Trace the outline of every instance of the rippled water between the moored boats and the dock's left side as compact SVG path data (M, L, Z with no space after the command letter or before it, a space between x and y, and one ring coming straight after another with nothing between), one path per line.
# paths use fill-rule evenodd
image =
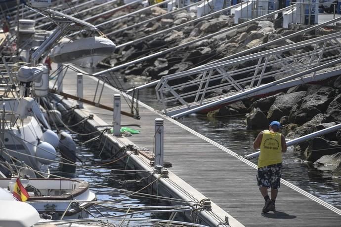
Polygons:
M74 129L75 131L81 131L81 129ZM67 177L67 178L76 178L83 181L86 181L90 184L90 190L96 194L97 201L113 201L117 203L124 203L127 205L136 205L136 206L156 206L156 205L171 205L166 201L156 201L155 199L148 198L148 197L140 197L140 196L133 196L133 195L127 195L125 191L117 190L130 190L130 191L137 191L142 189L145 185L142 185L141 183L135 183L135 184L119 184L117 180L125 181L125 180L131 180L131 179L139 179L138 176L135 176L132 172L123 172L123 171L116 171L124 169L124 166L120 164L111 164L111 165L96 165L95 163L100 162L102 158L98 156L98 153L102 150L102 146L98 145L98 142L90 142L84 146L81 145L82 142L88 140L91 137L82 137L78 136L76 134L72 134L69 131L67 131L74 141L77 143L77 156L80 160L77 161L78 165L83 166L98 166L103 168L110 168L109 170L103 170L103 169L90 169L87 170L81 166L78 166L76 168L75 173L63 173L61 172L60 165L58 163L51 165L51 173L54 175ZM84 132L83 132L84 133ZM123 155L123 154L122 154ZM122 156L121 155L121 156ZM115 157L114 159L117 159L121 157L120 154ZM104 159L107 159L108 157L104 157ZM58 160L60 161L60 160ZM115 170L113 170L115 169ZM131 174L130 174L131 173ZM111 179L110 179L111 178ZM112 180L115 179L115 180ZM112 187L115 189L110 188L103 188L96 185L102 185L107 187ZM148 193L146 190L141 190L141 193ZM102 204L105 205L105 204ZM116 206L116 208L121 208L123 210L112 210L106 207L96 206L98 210L105 216L109 215L120 215L126 213L127 208L123 208L123 206ZM93 207L91 207L90 212L94 215L94 217L102 217ZM134 218L160 218L160 219L168 219L169 214L151 214L151 213L143 213L143 214L135 214ZM90 216L91 218L91 216ZM135 224L137 226L141 225L141 222L134 223L130 222L130 224ZM152 224L148 224L148 222L143 223L143 226L152 226Z

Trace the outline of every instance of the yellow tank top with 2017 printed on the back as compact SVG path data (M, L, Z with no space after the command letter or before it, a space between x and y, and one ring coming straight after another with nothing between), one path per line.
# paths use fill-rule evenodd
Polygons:
M258 168L282 162L281 133L263 131L258 157Z

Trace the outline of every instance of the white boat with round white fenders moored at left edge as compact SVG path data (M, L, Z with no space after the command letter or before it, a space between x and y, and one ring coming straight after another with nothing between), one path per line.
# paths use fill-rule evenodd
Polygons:
M23 168L21 174L31 177L49 177L48 164L56 158L56 151L52 145L44 142L44 133L38 120L33 116L18 119L18 99L2 99L1 101L5 105L0 109L6 110L5 127L2 129L5 149L2 156L9 163L13 163L13 169L19 168L23 163L29 166L29 169ZM56 137L58 139L58 136ZM38 174L35 171L39 171Z

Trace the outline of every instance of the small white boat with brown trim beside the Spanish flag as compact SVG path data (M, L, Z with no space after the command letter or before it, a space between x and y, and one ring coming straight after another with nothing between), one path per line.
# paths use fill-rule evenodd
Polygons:
M15 178L0 178L0 188L7 192L0 193L0 200L11 196L15 181ZM63 220L88 218L89 214L85 209L96 200L96 195L84 181L54 178L22 179L21 182L30 195L26 202L41 216L52 220L60 220L62 217Z

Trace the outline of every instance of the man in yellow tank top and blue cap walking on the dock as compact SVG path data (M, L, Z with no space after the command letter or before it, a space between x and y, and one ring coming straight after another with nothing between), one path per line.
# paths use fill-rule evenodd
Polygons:
M260 132L254 142L254 149L260 148L257 185L265 200L263 213L276 211L275 201L282 173L282 152L287 151L285 138L279 133L280 128L281 124L278 121L272 121L269 130ZM267 193L269 188L271 188L271 199Z

